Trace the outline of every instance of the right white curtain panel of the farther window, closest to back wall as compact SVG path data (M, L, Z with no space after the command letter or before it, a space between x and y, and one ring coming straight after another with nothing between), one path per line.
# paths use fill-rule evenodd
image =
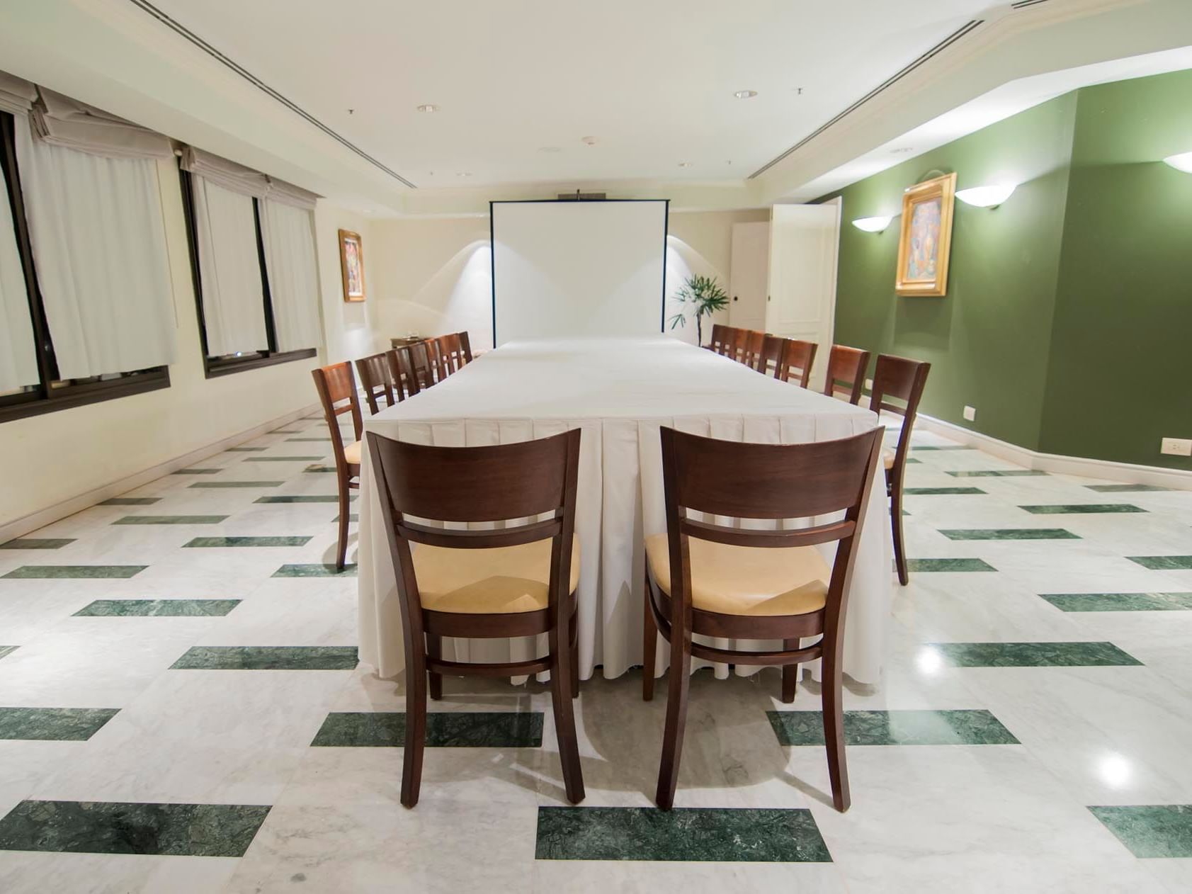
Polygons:
M261 237L278 350L316 348L323 341L313 228L313 212L273 199L261 201Z

